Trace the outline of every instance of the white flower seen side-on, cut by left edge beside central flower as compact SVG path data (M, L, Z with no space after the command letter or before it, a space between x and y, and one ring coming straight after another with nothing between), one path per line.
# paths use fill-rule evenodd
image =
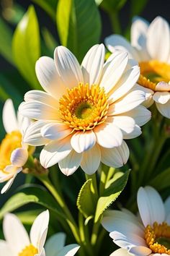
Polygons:
M1 189L4 193L27 162L27 145L22 142L22 136L30 121L20 114L16 116L11 99L4 104L2 119L6 136L0 145L0 182L8 181Z

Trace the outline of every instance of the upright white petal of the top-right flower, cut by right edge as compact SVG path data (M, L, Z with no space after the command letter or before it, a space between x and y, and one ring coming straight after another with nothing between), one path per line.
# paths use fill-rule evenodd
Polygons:
M148 27L147 48L152 59L164 62L169 59L169 24L161 17L156 17Z

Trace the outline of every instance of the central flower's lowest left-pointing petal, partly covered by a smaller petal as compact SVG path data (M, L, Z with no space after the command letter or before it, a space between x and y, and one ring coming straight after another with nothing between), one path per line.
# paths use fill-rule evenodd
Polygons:
M41 146L47 144L49 140L42 137L40 133L40 130L46 124L48 124L48 121L43 120L35 121L34 123L30 124L30 127L28 127L26 132L24 133L24 143L32 146Z

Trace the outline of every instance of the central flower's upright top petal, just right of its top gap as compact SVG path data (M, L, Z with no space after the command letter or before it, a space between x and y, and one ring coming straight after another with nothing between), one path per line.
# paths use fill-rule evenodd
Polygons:
M81 64L84 83L88 82L89 85L99 84L104 64L104 54L103 44L95 45L89 49Z

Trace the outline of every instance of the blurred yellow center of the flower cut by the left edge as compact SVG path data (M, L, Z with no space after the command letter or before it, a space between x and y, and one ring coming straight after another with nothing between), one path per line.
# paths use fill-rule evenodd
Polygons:
M14 131L6 134L0 145L0 170L11 164L10 158L12 151L22 146L22 134Z

